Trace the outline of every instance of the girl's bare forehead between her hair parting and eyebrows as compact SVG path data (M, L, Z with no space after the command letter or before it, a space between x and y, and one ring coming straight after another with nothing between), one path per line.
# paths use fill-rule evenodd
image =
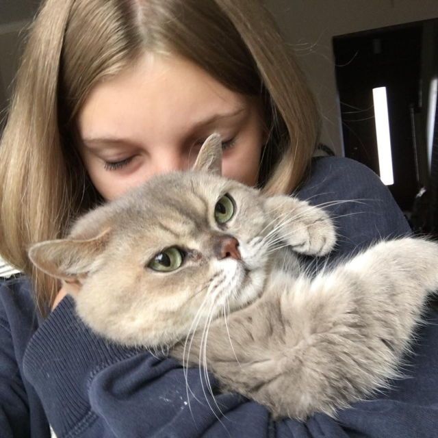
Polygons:
M123 73L96 85L78 116L81 136L129 134L151 142L179 135L208 114L250 105L181 57L146 54ZM171 128L171 129L170 129ZM169 139L170 140L170 139Z

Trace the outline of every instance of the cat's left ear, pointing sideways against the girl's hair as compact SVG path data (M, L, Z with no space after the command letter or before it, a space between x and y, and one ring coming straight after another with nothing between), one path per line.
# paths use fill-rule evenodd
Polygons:
M110 231L105 229L87 240L66 238L34 244L28 251L29 259L56 279L81 281L99 263L99 256L110 240Z

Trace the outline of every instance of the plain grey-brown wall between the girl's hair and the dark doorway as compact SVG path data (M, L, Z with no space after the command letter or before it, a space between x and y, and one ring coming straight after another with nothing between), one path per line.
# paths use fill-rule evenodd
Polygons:
M333 36L438 17L437 0L264 0L320 102L322 141L342 155Z

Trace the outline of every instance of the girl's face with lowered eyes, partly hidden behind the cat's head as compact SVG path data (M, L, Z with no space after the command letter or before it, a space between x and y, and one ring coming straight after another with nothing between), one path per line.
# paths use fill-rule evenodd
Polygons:
M232 92L179 57L145 55L99 83L79 112L79 152L107 200L153 175L192 166L209 134L222 136L222 174L259 176L266 129L260 102Z

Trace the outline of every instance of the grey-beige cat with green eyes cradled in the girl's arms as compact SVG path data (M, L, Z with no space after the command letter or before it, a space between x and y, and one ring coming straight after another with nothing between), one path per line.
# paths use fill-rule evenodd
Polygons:
M380 242L312 278L298 253L332 250L329 215L222 177L221 145L210 136L191 170L97 207L29 258L80 283L77 313L99 335L168 348L275 418L335 415L399 375L438 288L438 245Z

